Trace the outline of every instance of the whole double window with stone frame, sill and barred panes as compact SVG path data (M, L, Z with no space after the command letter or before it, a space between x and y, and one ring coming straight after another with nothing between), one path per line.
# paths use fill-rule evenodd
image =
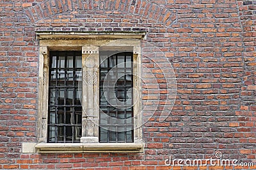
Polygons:
M144 36L38 31L38 152L143 151L138 77Z

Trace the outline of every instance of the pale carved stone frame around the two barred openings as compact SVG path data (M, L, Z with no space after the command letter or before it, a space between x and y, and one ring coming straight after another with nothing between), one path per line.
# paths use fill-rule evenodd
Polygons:
M64 32L64 31L37 31L36 38L39 40L39 96L38 96L38 143L22 144L24 153L76 153L76 152L143 152L142 142L142 116L141 97L134 104L134 143L99 143L99 127L86 127L92 125L88 121L99 121L99 47L110 50L120 49L133 52L134 62L134 88L141 95L141 40L145 38L145 31L90 31L90 32ZM48 116L48 93L49 93L49 51L51 50L81 50L83 76L92 72L96 76L95 84L84 83L82 105L91 115L82 114L82 137L81 143L47 143L47 116ZM86 62L85 62L86 61ZM95 77L94 77L95 78ZM88 95L89 94L89 95ZM136 94L136 93L134 93ZM93 98L95 100L93 100ZM134 98L137 98L135 96ZM89 101L89 102L88 102ZM91 119L87 119L92 116ZM87 128L87 130L86 130ZM93 133L88 133L93 128Z

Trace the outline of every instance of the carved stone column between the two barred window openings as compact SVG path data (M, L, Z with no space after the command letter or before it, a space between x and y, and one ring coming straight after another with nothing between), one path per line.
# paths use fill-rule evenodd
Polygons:
M83 115L81 143L98 143L99 47L83 47Z

